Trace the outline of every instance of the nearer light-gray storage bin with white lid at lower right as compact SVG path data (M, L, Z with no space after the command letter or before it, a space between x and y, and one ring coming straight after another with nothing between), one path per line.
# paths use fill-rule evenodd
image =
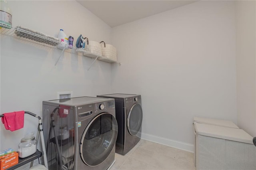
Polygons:
M256 170L252 136L239 128L194 123L197 170Z

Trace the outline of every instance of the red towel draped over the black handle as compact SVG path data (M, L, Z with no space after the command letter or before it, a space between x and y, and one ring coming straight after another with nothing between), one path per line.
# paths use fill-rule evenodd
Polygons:
M6 130L18 130L24 127L24 111L4 113L2 117L2 123Z

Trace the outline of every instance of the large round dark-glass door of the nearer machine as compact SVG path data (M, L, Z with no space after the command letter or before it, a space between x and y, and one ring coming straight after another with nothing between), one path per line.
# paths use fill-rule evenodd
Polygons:
M88 166L102 163L112 151L117 138L116 119L109 113L101 113L88 124L80 142L80 156Z

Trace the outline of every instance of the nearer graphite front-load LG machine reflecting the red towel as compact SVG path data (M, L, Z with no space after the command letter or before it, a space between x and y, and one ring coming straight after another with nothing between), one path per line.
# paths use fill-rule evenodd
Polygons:
M42 111L49 170L106 170L114 164L114 99L43 101Z

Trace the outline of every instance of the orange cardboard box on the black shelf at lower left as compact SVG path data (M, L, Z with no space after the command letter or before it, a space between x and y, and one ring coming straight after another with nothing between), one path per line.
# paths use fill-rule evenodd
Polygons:
M10 154L6 154L4 158L0 159L0 170L5 170L18 164L19 162L19 154L17 152L12 152Z

